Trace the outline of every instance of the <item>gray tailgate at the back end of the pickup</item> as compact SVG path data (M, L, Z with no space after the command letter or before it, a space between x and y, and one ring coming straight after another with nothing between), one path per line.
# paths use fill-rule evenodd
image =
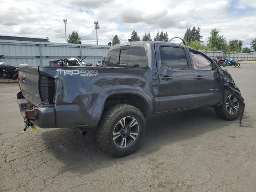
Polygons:
M38 86L39 80L38 66L19 66L19 82L22 94L28 102L34 105L42 102Z

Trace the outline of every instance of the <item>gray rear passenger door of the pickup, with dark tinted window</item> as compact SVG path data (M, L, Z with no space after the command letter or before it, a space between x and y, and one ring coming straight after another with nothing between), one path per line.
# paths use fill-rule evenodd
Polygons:
M194 100L195 77L184 46L156 44L159 74L159 109L168 112L190 108Z

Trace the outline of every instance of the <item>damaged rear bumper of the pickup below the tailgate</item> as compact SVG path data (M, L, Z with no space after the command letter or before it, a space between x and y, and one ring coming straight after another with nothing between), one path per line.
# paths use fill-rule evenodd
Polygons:
M17 93L17 101L20 108L20 113L25 117L25 110L30 110L30 103L26 100L22 92ZM38 118L31 121L34 125L40 128L55 128L55 114L54 108L50 105L41 105L38 109Z

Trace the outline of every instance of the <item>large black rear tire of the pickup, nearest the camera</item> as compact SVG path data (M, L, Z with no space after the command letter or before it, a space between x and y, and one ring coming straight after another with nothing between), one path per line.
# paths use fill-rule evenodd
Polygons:
M132 125L132 122L129 123L129 120L131 119L132 121L132 118L135 119L138 124ZM126 126L122 126L120 121L122 124L124 122L124 125L126 126L131 126L130 130L129 128L124 130ZM118 130L118 128L120 128L120 130ZM137 136L135 139L133 139L135 137L135 135L133 135L133 128L136 128L136 130L138 129L138 133L136 133ZM138 148L142 142L142 139L144 138L145 130L146 121L144 115L140 110L138 110L138 108L128 104L118 104L112 106L102 114L102 118L98 124L96 140L107 154L116 157L122 157L131 154L134 152L134 150L136 150L136 148ZM119 131L120 136L117 135L118 138L115 136L115 139L114 134L119 134ZM127 137L124 135L124 137L126 137L125 142L124 138L122 137L123 135L121 135L123 131L126 131L125 133L129 131ZM131 135L134 137L132 138ZM118 143L118 141L120 142Z

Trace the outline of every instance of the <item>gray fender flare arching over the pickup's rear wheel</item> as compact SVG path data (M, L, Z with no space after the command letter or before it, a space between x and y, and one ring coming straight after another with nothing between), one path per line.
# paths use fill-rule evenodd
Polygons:
M150 114L153 112L153 98L150 98L146 92L141 87L133 85L117 85L117 86L107 86L100 91L96 103L94 104L94 109L92 112L92 118L90 121L90 127L96 127L104 110L104 104L107 98L114 94L135 94L143 98L148 104Z

